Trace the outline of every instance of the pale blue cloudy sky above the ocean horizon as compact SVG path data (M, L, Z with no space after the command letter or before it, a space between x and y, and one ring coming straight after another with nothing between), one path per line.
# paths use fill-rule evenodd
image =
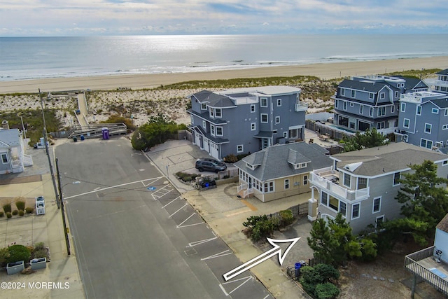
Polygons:
M2 0L0 36L448 33L447 0Z

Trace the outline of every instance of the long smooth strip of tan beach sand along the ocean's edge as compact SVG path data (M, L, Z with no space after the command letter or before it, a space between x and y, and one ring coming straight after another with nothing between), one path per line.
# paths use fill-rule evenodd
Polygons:
M207 81L231 78L263 78L274 76L317 76L323 79L356 75L384 74L410 69L447 69L448 57L376 60L367 62L335 62L304 64L288 67L262 67L229 71L209 71L177 74L139 74L116 76L87 76L45 78L22 81L0 81L0 94L15 92L43 92L64 90L116 90L117 88L156 88L184 81Z

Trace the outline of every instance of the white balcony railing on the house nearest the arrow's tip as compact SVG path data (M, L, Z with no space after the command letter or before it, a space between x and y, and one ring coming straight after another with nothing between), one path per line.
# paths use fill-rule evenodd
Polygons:
M311 172L311 183L320 186L328 193L332 193L346 200L365 200L370 196L369 187L358 190L349 190L314 172Z

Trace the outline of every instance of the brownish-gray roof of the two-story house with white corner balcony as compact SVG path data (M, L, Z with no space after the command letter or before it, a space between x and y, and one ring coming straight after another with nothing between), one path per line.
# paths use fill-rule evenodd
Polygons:
M428 148L405 142L387 144L360 151L332 155L337 160L337 168L359 176L379 176L385 173L408 169L411 164L421 164L424 160L447 160L447 155ZM359 163L360 164L356 164ZM353 167L356 165L356 167Z

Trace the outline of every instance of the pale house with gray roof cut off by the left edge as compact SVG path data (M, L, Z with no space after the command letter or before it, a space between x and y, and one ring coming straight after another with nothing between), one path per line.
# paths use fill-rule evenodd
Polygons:
M18 129L0 130L0 174L23 172L33 165L30 155L25 154L22 133Z

